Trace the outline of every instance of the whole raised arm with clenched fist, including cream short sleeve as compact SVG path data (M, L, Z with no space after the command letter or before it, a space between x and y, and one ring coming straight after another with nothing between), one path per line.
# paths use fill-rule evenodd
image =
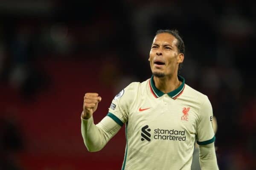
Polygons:
M90 152L101 150L105 144L128 121L128 113L137 94L138 83L131 83L117 94L112 100L108 115L97 125L93 122L93 113L102 98L97 93L84 95L83 112L81 114L81 133L84 144Z

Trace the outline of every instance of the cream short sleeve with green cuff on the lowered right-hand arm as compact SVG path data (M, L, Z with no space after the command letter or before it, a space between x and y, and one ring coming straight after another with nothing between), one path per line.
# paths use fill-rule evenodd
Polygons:
M210 144L215 141L212 127L212 105L206 96L200 109L200 118L197 125L197 144Z

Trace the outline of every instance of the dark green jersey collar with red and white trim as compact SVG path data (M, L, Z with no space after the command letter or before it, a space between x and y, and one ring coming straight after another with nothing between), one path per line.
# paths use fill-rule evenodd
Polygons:
M153 95L157 98L157 97L161 97L164 95L164 93L160 90L157 89L157 87L155 86L154 84L154 79L153 79L153 75L150 79L150 88L151 88L151 92L153 93ZM174 91L171 91L168 94L168 96L172 97L173 99L176 99L177 96L179 96L182 92L183 92L183 89L185 87L185 79L181 76L178 75L178 79L182 82L181 85L175 89Z

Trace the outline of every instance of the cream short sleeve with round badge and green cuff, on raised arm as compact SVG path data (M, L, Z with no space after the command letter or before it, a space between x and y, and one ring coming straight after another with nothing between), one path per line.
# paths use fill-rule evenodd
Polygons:
M133 82L122 89L122 91L114 97L109 107L107 116L111 117L120 126L128 122L130 108L136 95L136 84L136 82Z

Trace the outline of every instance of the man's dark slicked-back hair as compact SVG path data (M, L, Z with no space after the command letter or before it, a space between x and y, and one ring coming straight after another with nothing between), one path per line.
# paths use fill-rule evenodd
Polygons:
M160 29L157 31L156 35L157 34L161 34L161 33L169 33L169 34L172 34L177 40L177 49L178 49L178 52L179 53L183 53L185 55L185 45L184 45L184 42L182 40L182 38L180 37L180 34L179 34L179 31L177 31L176 29L175 30L169 30L169 29ZM180 69L182 68L183 66L183 63L180 63L179 64L179 68L178 68L178 71L180 71Z

